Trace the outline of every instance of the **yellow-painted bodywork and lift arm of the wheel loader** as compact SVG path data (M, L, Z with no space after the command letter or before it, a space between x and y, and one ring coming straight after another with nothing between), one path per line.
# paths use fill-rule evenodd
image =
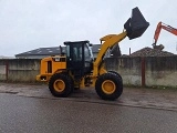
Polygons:
M107 49L117 44L126 35L127 35L126 31L123 31L119 34L108 34L101 38L100 40L103 43L101 45L101 50L98 51L97 58L93 63L93 73L90 73L88 75L83 76L80 82L74 81L74 84L80 85L80 88L85 88L85 78L88 76L90 79L92 79L92 83L90 85L95 86L97 76L104 73L107 73L103 63L103 57L106 53ZM54 73L60 73L63 71L66 71L66 57L58 55L58 57L44 58L41 60L40 74L37 75L37 80L48 82ZM73 78L71 73L69 74ZM59 82L58 84L59 84L59 90L63 88L62 82ZM106 82L105 84L108 84L108 83Z

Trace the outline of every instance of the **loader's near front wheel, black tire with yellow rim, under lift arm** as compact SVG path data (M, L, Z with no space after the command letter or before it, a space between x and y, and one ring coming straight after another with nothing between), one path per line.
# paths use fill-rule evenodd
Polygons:
M123 82L114 73L104 73L97 78L95 90L101 99L113 101L123 93Z

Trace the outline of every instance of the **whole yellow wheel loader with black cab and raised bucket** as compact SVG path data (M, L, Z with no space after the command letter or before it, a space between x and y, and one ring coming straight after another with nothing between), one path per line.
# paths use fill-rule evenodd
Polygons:
M94 86L101 99L116 100L123 93L123 79L117 72L104 68L104 55L126 37L129 40L140 37L148 25L136 7L125 22L123 32L100 39L101 50L95 60L90 41L66 41L65 53L61 51L60 55L41 60L37 80L48 82L50 92L58 98L69 96L75 88Z

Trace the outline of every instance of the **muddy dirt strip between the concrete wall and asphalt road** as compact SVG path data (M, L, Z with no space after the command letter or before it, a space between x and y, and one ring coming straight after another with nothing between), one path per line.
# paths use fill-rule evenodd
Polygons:
M46 84L0 83L0 93L61 100L50 93ZM124 88L124 92L118 100L108 102L101 100L94 89L87 88L85 90L75 90L69 98L62 100L177 111L177 90Z

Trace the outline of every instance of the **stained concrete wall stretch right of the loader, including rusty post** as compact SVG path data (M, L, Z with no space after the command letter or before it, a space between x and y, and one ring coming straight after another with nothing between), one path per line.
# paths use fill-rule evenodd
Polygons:
M105 64L122 75L124 85L177 88L177 57L110 58Z

